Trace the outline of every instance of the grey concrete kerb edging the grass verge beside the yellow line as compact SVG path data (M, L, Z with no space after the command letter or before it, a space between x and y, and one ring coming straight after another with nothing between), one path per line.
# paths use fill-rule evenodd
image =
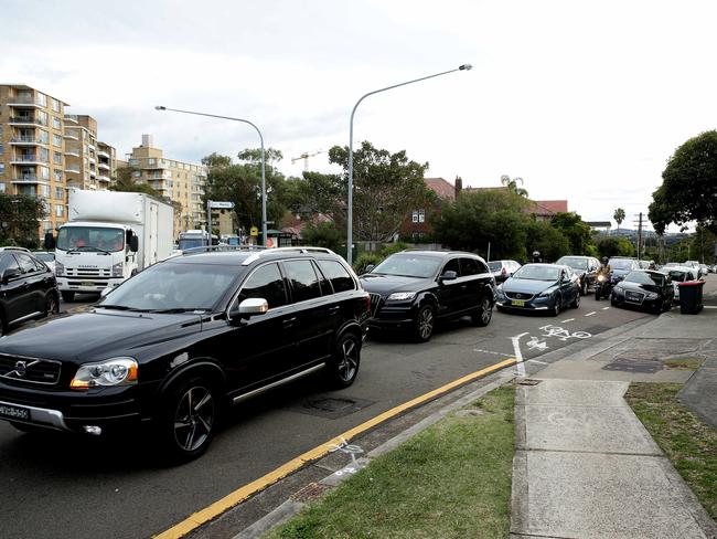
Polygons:
M454 412L456 410L460 410L461 408L467 406L468 404L477 401L478 399L484 397L486 393L490 393L494 389L500 388L501 385L504 385L509 382L511 382L514 377L513 374L509 371L501 371L495 374L496 380L479 388L478 390L453 401L452 403L448 404L447 406L440 409L439 411L435 412L434 414L429 415L428 418L425 418L424 420L419 421L415 425L406 429L402 433L397 434L396 436L392 437L390 440L384 442L379 446L375 447L374 450L370 451L365 457L357 458L355 462L351 463L347 466L344 466L343 468L328 475L323 479L319 480L318 484L327 487L336 487L341 483L343 483L346 478L351 477L354 473L358 472L360 469L365 468L371 464L371 462L385 454L388 453L396 447L398 447L400 444L409 440L410 437L415 436L416 434L420 433L421 431L428 429L430 425L434 425L435 423L439 422L443 418L446 418L448 414L451 412ZM351 468L351 469L350 469ZM281 524L286 522L289 520L291 517L293 517L297 512L299 512L303 507L306 507L307 504L302 501L297 501L295 499L288 499L283 504L281 504L279 507L274 509L271 512L263 517L261 519L257 520L254 522L252 526L245 528L242 530L239 533L234 536L233 539L254 539L256 537L261 536L263 533L266 533L269 531L271 528L276 526L280 526Z

